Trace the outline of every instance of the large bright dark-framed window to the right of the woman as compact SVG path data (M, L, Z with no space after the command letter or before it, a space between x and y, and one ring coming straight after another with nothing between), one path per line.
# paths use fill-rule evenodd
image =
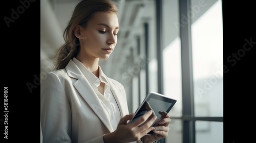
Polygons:
M165 142L223 142L221 0L163 0L162 17L164 94L177 99Z

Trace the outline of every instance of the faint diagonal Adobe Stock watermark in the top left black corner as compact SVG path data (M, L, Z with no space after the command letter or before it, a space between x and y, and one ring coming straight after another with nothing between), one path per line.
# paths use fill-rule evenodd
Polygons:
M15 22L20 16L20 14L23 14L26 9L30 7L30 3L35 2L36 0L20 0L20 5L16 9L11 9L11 15L9 17L5 16L4 20L6 22L7 27L10 27L11 22Z

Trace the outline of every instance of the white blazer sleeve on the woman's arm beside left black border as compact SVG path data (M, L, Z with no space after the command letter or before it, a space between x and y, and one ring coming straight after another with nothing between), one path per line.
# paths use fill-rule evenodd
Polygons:
M71 110L60 79L48 73L40 93L42 142L71 142Z

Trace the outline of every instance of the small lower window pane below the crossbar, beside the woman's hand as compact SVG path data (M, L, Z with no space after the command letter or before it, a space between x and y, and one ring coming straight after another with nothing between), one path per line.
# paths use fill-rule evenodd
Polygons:
M169 124L169 134L165 138L165 142L182 143L182 122L178 119L172 119Z

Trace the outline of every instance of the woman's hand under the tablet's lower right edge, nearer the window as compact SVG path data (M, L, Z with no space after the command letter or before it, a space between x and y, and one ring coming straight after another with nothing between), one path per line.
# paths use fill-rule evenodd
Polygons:
M158 126L154 127L152 135L143 136L143 143L154 142L156 140L167 137L169 132L170 118L167 115L165 118L158 122Z

